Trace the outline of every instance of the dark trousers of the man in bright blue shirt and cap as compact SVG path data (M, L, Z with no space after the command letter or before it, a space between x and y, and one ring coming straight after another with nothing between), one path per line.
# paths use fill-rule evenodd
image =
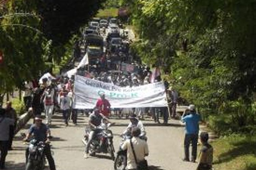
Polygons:
M185 151L185 158L189 160L189 146L190 143L192 144L192 156L191 160L196 160L197 158L197 141L198 141L198 134L186 134L184 139L184 151Z

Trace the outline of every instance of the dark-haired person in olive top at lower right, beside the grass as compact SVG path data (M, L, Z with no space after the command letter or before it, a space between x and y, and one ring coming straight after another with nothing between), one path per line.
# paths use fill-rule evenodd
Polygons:
M208 143L209 134L207 132L200 133L202 148L199 154L197 170L211 170L213 162L213 147Z

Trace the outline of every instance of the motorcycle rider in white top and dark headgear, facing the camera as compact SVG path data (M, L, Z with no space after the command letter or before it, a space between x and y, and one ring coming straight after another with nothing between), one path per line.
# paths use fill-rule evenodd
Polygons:
M137 127L141 131L140 137L145 137L146 136L145 128L144 128L142 122L136 117L136 115L132 114L131 116L129 116L129 119L130 119L130 123L128 124L126 130L123 132L122 135L130 136L131 129Z

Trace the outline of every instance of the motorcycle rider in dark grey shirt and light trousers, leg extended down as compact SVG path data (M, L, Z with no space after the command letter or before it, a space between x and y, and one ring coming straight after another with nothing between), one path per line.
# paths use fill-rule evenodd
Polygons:
M93 141L96 134L99 132L99 129L97 127L101 124L102 121L105 121L106 123L111 123L103 114L100 113L100 109L98 107L95 107L94 112L90 114L89 116L89 126L90 126L90 133L88 137L88 141L85 147L85 154L84 158L89 157L89 147L91 142Z

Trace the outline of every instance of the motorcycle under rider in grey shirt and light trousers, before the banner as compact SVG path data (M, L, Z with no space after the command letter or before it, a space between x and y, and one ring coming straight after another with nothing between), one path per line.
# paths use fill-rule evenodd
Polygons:
M96 131L93 141L89 146L89 154L94 156L96 153L110 153L111 159L115 159L115 149L113 145L113 133L109 130L111 123L101 123ZM82 139L84 145L87 145L88 137L90 133L90 128L85 128L85 135Z

